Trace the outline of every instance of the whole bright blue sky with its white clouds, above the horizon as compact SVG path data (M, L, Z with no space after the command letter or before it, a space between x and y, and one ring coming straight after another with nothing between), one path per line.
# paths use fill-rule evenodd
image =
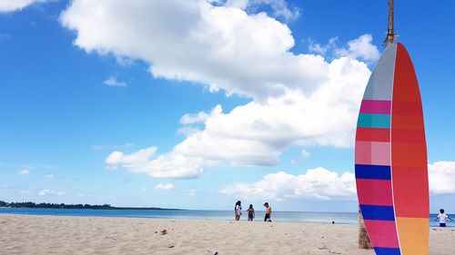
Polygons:
M455 211L455 3L396 1L430 211ZM0 200L357 211L387 1L3 0Z

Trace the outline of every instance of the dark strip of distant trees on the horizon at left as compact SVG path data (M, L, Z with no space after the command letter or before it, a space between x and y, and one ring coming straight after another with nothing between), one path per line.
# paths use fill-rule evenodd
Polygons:
M65 204L65 203L35 203L33 201L23 202L5 202L0 201L0 207L10 208L51 208L51 209L101 209L101 210L176 210L176 209L164 209L157 207L114 207L110 204L103 205L91 205L91 204Z

